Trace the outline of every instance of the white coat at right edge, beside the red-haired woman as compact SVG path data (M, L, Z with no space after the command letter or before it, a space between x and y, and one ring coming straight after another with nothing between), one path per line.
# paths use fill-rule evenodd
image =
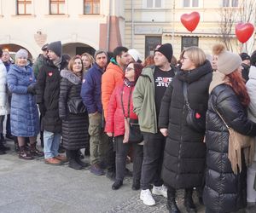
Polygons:
M250 67L247 92L251 100L248 107L248 118L256 123L256 66ZM256 146L254 146L253 160L256 161Z

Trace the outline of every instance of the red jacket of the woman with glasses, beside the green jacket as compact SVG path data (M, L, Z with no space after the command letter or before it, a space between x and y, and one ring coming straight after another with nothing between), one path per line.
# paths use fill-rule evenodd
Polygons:
M124 89L124 90L123 90ZM125 108L125 116L128 116L128 101L130 97L130 118L137 119L137 115L133 112L132 93L134 87L118 85L113 90L110 101L108 103L108 116L105 132L113 132L114 136L125 135L125 116L121 104L121 93L123 90L123 103Z

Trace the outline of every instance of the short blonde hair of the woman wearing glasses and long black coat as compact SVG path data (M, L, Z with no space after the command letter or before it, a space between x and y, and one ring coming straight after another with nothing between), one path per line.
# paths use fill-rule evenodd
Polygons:
M203 65L207 60L205 52L198 47L186 48L184 49L184 53L188 55L189 60L195 64L195 67Z

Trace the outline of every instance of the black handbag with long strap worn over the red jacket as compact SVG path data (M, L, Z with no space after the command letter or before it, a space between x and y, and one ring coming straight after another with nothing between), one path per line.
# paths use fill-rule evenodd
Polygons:
M124 88L125 88L125 84L123 86L123 89L121 91L121 104L122 104L122 109L123 109L123 113L125 116L125 107L124 107L124 102L123 102L123 93L124 93ZM132 91L132 89L131 89ZM129 101L128 101L128 116L125 116L125 125L128 125L128 141L130 143L140 143L141 141L143 141L143 134L140 130L140 125L138 124L138 120L137 119L131 119L130 118L130 105L131 105L131 91L129 94Z

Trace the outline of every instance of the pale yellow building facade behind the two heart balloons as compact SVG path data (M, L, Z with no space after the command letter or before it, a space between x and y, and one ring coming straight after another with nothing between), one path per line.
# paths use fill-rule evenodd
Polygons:
M252 3L252 5L248 5ZM247 4L247 5L245 5ZM125 1L125 45L144 56L153 53L159 43L172 43L174 55L178 57L184 47L199 46L211 54L212 45L223 41L221 21L231 20L230 49L235 52L253 50L254 37L247 46L241 46L235 35L235 24L246 20L245 10L253 7L249 20L255 22L253 0L131 0ZM200 22L194 32L189 32L181 23L182 14L200 14ZM225 21L224 21L225 22ZM247 48L247 50L246 50Z

